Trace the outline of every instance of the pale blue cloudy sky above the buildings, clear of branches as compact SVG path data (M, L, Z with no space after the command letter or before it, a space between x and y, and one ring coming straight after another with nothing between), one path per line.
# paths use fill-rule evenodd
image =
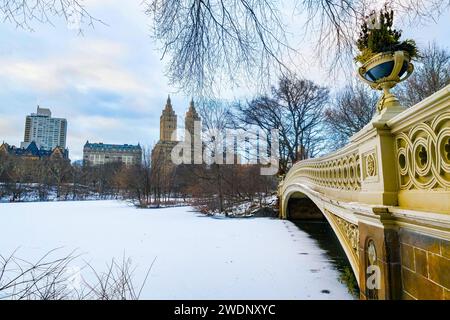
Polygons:
M142 1L85 3L108 26L97 24L80 36L62 20L35 24L34 32L0 23L0 142L20 145L25 116L37 105L68 120L72 160L82 157L86 140L155 143L169 93L177 114L186 111L190 97L168 85ZM449 21L446 13L437 24L404 27L404 35L419 45L436 40L450 48ZM313 57L304 57L311 63L303 71L325 83L325 71Z

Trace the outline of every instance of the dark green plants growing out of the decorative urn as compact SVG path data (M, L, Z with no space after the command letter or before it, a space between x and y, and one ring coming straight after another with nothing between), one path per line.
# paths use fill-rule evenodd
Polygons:
M357 62L364 64L381 52L405 51L411 59L419 56L416 42L411 39L400 41L402 31L394 29L393 22L394 11L386 6L379 14L373 11L366 17L356 42L360 51L355 57Z

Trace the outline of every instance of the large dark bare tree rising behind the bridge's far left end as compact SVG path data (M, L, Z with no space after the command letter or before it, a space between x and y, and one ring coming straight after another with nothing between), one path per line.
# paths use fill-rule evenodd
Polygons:
M323 110L328 99L327 88L294 74L284 75L270 95L236 107L237 124L244 129L257 126L267 137L271 130L278 129L282 174L296 161L317 155L324 138Z

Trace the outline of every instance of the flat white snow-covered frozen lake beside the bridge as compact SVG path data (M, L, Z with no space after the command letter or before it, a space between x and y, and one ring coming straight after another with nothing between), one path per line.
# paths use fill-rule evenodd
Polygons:
M315 241L288 221L87 201L3 203L0 226L2 255L78 249L76 263L97 270L125 255L137 283L156 258L144 299L352 299Z

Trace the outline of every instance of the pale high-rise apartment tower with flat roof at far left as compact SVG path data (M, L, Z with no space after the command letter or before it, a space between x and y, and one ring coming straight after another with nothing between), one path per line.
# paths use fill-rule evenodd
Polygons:
M39 148L53 150L56 147L66 148L67 120L52 118L50 109L37 107L36 113L26 117L24 142L21 147L27 148L34 141Z

